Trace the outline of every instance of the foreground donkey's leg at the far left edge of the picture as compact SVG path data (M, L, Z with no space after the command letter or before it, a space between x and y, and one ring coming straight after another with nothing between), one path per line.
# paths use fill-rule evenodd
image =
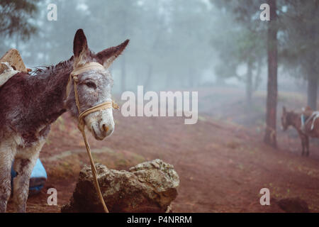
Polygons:
M0 143L0 213L6 212L11 193L11 165L15 152L13 143Z

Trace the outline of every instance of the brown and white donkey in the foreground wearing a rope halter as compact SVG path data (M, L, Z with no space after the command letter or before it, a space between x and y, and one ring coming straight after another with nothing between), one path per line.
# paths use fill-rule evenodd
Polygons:
M74 55L55 66L38 68L29 75L15 74L0 88L0 212L6 212L11 194L11 164L17 177L13 180L13 204L17 212L26 212L29 179L50 125L66 111L74 118L79 111L70 87L66 87L73 69L90 62L103 65L99 70L79 74L77 94L80 112L111 101L113 79L108 67L123 52L129 40L94 53L89 50L84 31L74 36ZM96 140L103 140L114 130L113 111L104 109L89 114L84 123Z

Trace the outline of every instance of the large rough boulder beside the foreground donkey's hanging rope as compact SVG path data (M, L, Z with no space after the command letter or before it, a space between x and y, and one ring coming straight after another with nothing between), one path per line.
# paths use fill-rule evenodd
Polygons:
M96 171L110 212L165 212L177 197L179 176L172 165L159 159L142 162L129 171L108 170L96 164ZM73 196L61 212L103 212L91 167L81 170Z

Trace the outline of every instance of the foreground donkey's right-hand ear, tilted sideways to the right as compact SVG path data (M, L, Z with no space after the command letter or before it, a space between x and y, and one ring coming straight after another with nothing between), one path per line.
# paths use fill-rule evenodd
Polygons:
M114 60L116 60L116 57L118 57L118 55L121 55L123 50L128 45L129 41L130 40L125 40L123 43L121 43L120 45L117 45L116 47L107 48L105 50L102 50L101 52L98 52L96 54L96 57L98 57L99 60L101 60L101 63L107 69L108 67L110 67L112 62Z

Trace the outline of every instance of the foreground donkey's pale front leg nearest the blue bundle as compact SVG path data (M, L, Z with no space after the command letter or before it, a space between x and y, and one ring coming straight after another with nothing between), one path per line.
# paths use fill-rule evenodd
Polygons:
M13 202L18 213L26 212L30 176L37 159L38 154L14 160L14 170L16 170L17 176L13 179Z

